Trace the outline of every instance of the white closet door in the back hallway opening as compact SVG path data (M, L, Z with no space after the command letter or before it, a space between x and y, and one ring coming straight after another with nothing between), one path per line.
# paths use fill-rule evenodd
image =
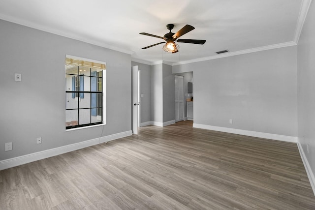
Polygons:
M184 120L184 77L175 75L175 121Z

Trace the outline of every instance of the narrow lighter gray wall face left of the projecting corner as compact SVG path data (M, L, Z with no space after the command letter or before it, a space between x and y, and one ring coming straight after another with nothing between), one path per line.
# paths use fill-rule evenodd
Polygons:
M163 122L162 64L151 66L151 120Z

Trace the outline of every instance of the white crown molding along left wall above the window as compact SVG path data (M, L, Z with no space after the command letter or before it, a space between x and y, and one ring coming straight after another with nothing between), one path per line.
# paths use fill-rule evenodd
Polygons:
M56 34L56 35L60 35L60 36L66 37L66 38L75 39L75 40L82 41L82 42L85 42L85 43L88 43L88 44L93 44L93 45L96 45L96 46L99 46L99 47L104 47L104 48L107 48L107 49L110 49L110 50L115 50L115 51L118 51L118 52L121 52L121 53L126 53L126 54L129 54L129 55L132 55L134 53L131 50L126 50L126 49L119 48L119 47L116 47L116 46L108 45L108 44L105 44L105 43L102 43L102 42L98 42L98 41L95 41L95 40L92 40L92 39L88 39L88 38L85 38L85 37L82 37L82 36L78 36L77 34L74 34L74 33L69 33L69 32L65 32L65 31L62 31L62 30L52 29L52 28L47 27L47 26L41 26L41 25L38 25L38 24L34 24L34 23L30 22L30 21L22 20L22 19L15 18L15 17L12 17L12 16L7 16L7 15L0 14L0 19L2 19L4 21L11 22L11 23L15 23L15 24L18 24L18 25L22 25L22 26L25 26L25 27L29 27L29 28L32 28L32 29L42 30L42 31L45 31L45 32L48 32L48 33L53 33L53 34Z

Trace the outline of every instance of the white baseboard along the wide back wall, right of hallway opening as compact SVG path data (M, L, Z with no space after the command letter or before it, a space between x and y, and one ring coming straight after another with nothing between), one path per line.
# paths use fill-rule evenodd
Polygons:
M272 140L278 140L278 141L283 141L283 142L293 142L293 143L298 142L298 138L295 136L284 136L284 135L279 135L279 134L262 133L262 132L256 132L256 131L250 131L250 130L241 130L241 129L235 129L235 128L218 127L218 126L196 124L196 123L193 123L192 127L221 131L221 132L226 132L226 133L240 134L240 135L245 135L245 136L253 136L253 137L264 138L264 139L272 139Z

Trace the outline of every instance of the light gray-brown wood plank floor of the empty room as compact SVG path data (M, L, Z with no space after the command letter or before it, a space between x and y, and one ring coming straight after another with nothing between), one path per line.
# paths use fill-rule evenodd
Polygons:
M192 128L139 135L0 171L1 210L314 210L296 144Z

